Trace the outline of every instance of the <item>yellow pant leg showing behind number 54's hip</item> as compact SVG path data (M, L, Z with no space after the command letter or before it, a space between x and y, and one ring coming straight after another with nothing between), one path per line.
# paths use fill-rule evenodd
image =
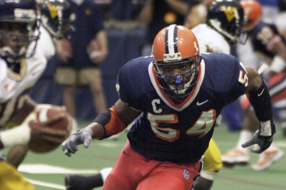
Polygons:
M216 173L223 167L220 151L213 139L209 141L209 148L206 149L203 156L203 170L200 175L203 178L213 180Z

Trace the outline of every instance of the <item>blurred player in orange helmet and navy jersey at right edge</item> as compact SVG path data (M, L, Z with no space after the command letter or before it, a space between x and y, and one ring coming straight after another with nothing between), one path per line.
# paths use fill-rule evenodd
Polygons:
M285 107L286 107L286 83L285 83L285 66L286 66L286 43L284 37L279 34L274 24L262 22L262 8L258 1L242 0L240 1L245 15L247 25L245 29L249 31L251 44L254 52L270 65L269 72L269 94L271 102L276 113L278 121L282 121L285 126ZM235 164L245 165L249 162L248 149L242 148L241 144L251 138L253 133L259 128L259 122L255 118L252 107L249 107L247 98L242 100L242 105L246 110L243 130L237 146L231 151L222 155L223 164L234 166ZM251 167L254 170L264 170L284 155L284 152L276 147L273 143L271 146L260 154L256 164Z

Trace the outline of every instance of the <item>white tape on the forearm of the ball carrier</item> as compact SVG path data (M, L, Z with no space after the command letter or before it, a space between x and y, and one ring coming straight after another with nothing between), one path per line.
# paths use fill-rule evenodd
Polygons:
M0 140L4 147L27 144L31 138L31 129L28 124L22 124L12 129L0 132Z

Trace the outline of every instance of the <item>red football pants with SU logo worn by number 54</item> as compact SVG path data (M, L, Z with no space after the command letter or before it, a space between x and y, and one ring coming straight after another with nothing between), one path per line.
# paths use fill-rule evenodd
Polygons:
M102 190L190 190L202 162L175 164L146 159L127 141Z

